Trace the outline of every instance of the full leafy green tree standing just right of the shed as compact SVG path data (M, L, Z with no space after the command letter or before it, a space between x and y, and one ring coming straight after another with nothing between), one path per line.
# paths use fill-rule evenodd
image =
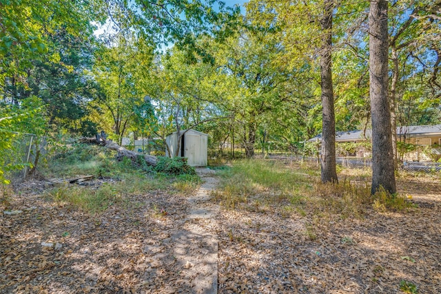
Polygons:
M252 17L248 21L252 23ZM225 107L234 117L234 132L241 135L245 156L252 158L259 127L290 102L285 87L294 72L286 63L278 63L284 48L271 32L243 29L216 44L215 51L219 74L228 85Z

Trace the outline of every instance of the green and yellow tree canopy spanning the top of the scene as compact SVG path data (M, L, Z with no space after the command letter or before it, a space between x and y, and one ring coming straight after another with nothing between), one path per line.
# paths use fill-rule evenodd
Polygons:
M212 149L229 143L252 157L323 133L329 181L335 132L376 132L367 2L250 0L243 14L216 0L0 0L0 8L4 138L103 129L121 143L195 128L212 135ZM441 121L441 3L387 8L382 89L396 165L396 126ZM40 130L23 128L21 118L35 114Z

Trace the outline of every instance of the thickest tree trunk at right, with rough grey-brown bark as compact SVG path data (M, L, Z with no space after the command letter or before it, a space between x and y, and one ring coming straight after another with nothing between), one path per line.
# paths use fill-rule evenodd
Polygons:
M372 117L372 187L396 193L393 169L391 112L387 97L388 50L387 1L371 1L369 10L369 95Z

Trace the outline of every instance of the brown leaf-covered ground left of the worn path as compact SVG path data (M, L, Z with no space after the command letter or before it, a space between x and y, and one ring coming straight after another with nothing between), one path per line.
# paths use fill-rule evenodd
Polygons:
M91 216L47 200L27 182L0 216L0 293L190 293L172 234L186 197L153 191ZM42 242L62 245L55 250Z

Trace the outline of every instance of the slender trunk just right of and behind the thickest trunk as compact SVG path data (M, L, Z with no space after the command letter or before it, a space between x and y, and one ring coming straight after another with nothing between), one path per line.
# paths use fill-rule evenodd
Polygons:
M400 69L398 67L398 52L395 48L395 44L392 45L392 63L393 63L393 76L390 92L391 103L391 131L392 131L392 152L393 152L393 169L398 169L398 152L397 152L397 116L396 116L396 93L398 84L398 75Z

